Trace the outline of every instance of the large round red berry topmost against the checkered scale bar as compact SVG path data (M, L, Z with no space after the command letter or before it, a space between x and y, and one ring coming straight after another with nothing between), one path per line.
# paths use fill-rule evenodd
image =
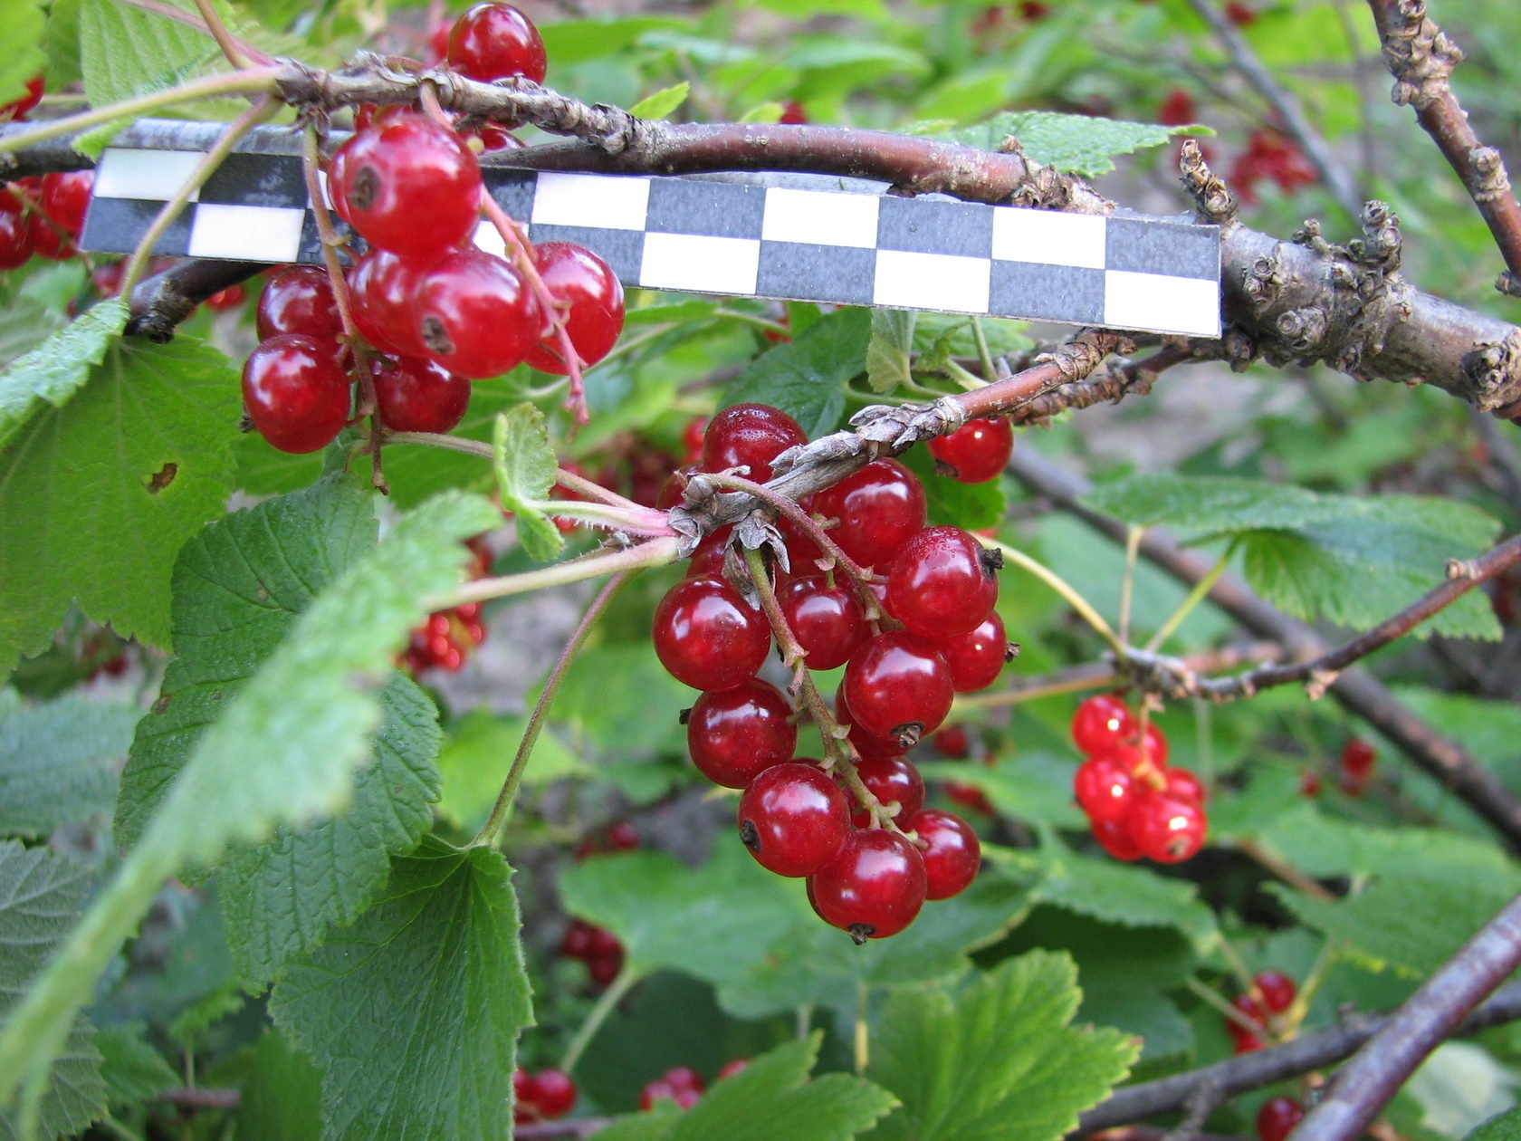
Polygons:
M347 146L336 193L367 242L402 257L437 257L475 231L481 166L453 131L403 114Z

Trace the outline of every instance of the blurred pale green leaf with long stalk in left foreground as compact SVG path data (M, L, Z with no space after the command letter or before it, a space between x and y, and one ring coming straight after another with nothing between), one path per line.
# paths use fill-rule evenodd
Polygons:
M494 519L484 499L440 496L303 612L202 735L137 847L17 1007L0 1035L0 1103L23 1085L33 1095L75 1012L164 881L214 863L234 841L257 843L280 825L310 825L348 805L382 720L373 694L391 656L427 596L458 583L458 540Z

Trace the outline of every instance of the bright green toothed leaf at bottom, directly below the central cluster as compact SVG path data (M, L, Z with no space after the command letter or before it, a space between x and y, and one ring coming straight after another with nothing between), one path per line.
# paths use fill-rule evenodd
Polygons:
M1139 1054L1118 1030L1074 1030L1081 992L1063 954L1031 951L960 993L902 990L872 1039L867 1076L902 1109L882 1141L1059 1141Z

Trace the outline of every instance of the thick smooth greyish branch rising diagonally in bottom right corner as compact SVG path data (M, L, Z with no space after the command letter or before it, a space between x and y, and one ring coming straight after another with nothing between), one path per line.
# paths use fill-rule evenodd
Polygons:
M1294 1141L1352 1141L1399 1092L1427 1054L1521 965L1521 896L1459 948L1331 1082Z

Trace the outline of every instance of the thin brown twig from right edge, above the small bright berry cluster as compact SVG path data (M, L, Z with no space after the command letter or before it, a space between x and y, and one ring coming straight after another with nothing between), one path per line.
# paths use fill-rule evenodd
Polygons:
M1381 650L1398 637L1404 637L1480 583L1488 583L1516 563L1521 563L1521 536L1512 536L1471 561L1454 560L1448 563L1446 581L1428 590L1398 615L1386 618L1372 630L1343 642L1334 650L1291 665L1262 666L1237 674L1235 677L1202 679L1186 666L1174 668L1170 659L1159 656L1138 651L1133 654L1133 660L1156 688L1174 698L1209 697L1215 701L1230 701L1238 697L1252 697L1262 689L1288 685L1290 682L1305 682L1310 695L1320 697L1326 686L1335 680L1337 674L1352 665L1352 662L1367 657L1375 650Z

